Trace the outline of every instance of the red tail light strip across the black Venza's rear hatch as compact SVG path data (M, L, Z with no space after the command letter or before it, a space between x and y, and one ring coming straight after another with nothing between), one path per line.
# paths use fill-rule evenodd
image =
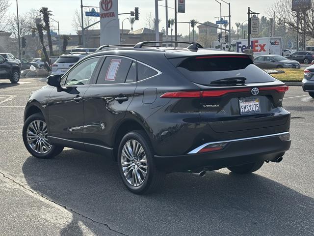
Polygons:
M249 92L252 88L244 88L244 89L223 89L223 90L207 90L207 91L174 91L174 92L166 92L162 94L161 98L201 98L201 97L219 97L225 95L227 93L233 92ZM284 86L273 86L273 87L262 87L259 88L260 91L270 91L275 90L276 92L286 92L289 87Z

